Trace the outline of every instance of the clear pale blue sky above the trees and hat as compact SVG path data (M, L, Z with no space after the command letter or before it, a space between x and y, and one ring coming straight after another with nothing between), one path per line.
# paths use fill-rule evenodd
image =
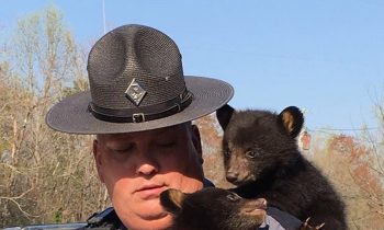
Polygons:
M0 0L0 27L49 4L81 44L103 34L102 0ZM105 0L105 26L145 24L172 37L185 74L231 83L237 108L306 111L306 126L377 127L384 103L384 1ZM3 36L1 36L3 37ZM343 130L348 133L348 130Z

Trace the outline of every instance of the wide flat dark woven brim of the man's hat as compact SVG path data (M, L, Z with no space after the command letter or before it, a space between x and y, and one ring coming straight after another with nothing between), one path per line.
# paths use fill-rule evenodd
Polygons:
M69 134L118 134L150 130L182 124L211 114L225 105L234 95L227 82L185 76L187 89L193 93L192 103L182 112L143 123L111 123L95 118L89 111L90 91L77 93L55 104L46 115L47 125Z

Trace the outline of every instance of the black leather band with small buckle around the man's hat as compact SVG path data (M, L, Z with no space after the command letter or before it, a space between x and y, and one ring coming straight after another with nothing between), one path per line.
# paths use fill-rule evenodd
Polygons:
M189 91L180 94L180 96L160 103L157 105L142 107L140 110L113 110L105 108L95 105L93 102L89 103L88 110L92 115L101 120L111 123L143 123L154 119L163 118L173 114L177 114L188 107L193 99L193 94ZM151 113L150 111L160 111L157 113Z

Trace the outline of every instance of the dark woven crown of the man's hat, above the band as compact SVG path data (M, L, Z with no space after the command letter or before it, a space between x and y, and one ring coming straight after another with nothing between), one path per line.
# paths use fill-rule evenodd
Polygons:
M105 34L89 54L92 103L111 110L148 107L185 91L181 55L166 34L143 25L125 25ZM126 94L135 82L145 92L135 102Z

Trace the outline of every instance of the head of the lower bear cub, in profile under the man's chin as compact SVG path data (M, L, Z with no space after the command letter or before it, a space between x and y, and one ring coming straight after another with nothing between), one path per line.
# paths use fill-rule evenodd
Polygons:
M173 215L174 229L253 230L266 217L267 200L244 199L237 194L207 187L187 194L168 189L160 194L163 208Z

